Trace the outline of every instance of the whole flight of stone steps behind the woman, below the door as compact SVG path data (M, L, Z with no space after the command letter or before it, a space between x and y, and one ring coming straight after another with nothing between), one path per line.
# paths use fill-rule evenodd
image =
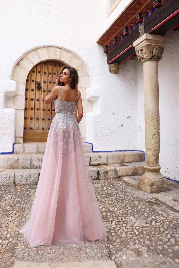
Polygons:
M144 174L140 151L92 152L84 143L92 180ZM14 154L0 155L0 185L37 184L46 143L16 143Z

